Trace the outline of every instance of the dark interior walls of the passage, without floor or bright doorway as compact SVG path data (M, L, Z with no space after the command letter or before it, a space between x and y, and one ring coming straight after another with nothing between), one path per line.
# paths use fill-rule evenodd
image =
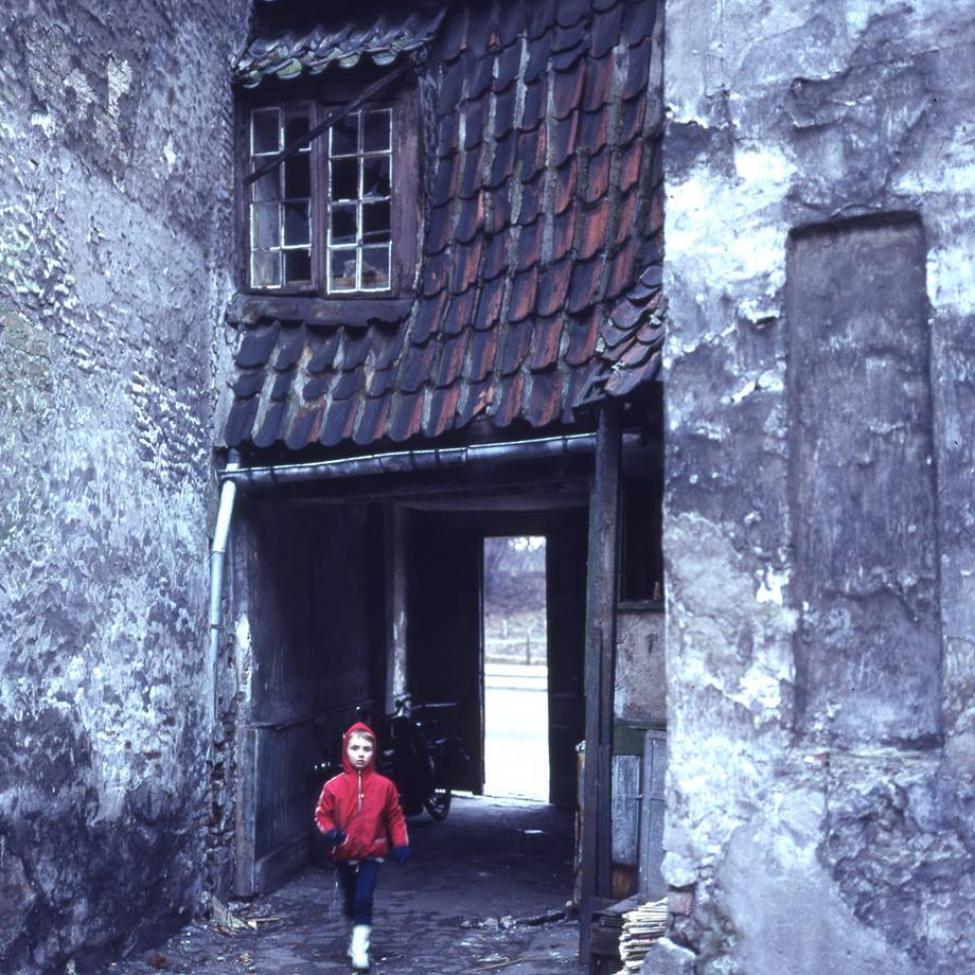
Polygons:
M252 674L238 732L234 893L268 892L315 859L315 764L330 749L334 757L358 708L381 717L404 690L446 705L421 717L470 756L455 793L483 794L487 537L544 543L547 720L536 738L548 772L530 777L536 796L571 820L585 734L585 503L582 491L521 507L468 499L459 510L455 498L362 503L311 493L248 503L233 580ZM504 764L525 764L520 744L509 742ZM573 859L569 835L557 859ZM558 900L572 896L570 876Z

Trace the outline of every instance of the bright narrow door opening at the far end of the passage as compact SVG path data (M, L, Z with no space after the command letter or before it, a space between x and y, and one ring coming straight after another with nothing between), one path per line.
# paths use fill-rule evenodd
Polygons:
M484 539L484 791L549 798L543 535Z

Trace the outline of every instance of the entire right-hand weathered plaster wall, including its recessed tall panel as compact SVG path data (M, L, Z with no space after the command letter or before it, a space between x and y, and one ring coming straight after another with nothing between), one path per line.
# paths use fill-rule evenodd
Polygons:
M647 967L971 971L975 22L671 0L666 32L682 890Z

